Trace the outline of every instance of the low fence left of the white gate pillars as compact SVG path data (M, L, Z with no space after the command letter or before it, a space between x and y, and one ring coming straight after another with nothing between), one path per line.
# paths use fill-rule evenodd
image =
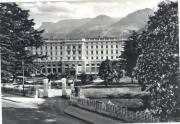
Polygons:
M1 89L2 89L2 92L4 93L23 95L23 89L9 88L9 87L1 87ZM32 88L25 88L24 94L25 96L35 97L36 91L35 89L32 89Z

